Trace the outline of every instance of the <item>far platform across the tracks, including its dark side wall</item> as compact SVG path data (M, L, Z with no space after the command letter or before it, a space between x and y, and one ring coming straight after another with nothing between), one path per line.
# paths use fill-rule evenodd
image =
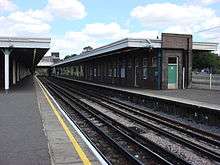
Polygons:
M139 88L116 87L93 82L74 80L60 77L68 81L87 87L95 87L96 90L106 92L115 99L128 101L128 104L144 106L154 112L162 112L173 116L190 120L195 123L205 125L219 125L220 103L218 101L220 93L208 90L148 90ZM144 108L142 107L142 108Z

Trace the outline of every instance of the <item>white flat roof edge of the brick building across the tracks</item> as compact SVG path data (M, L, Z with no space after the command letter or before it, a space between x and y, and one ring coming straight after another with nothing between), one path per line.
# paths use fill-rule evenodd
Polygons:
M123 48L144 48L144 47L152 47L152 48L161 48L162 41L160 39L137 39L137 38L125 38L111 44L93 49L89 52L86 52L82 55L74 56L70 59L58 62L52 66L58 66L62 64L66 64L69 62L85 59L88 57L93 57L96 55L104 54L107 52L123 49ZM216 51L218 47L218 43L211 42L193 42L193 50L211 50Z

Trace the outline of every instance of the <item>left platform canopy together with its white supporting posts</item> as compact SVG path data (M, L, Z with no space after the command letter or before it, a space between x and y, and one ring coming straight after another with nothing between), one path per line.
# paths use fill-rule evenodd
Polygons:
M50 38L0 37L0 86L4 82L8 90L11 82L16 84L28 72L33 73L49 50L50 41Z

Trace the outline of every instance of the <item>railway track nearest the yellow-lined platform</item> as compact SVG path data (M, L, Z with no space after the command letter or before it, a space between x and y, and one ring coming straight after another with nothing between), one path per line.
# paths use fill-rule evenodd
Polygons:
M176 155L164 150L157 144L147 141L138 133L127 128L123 124L85 104L81 101L83 99L82 97L74 95L68 89L60 87L59 85L46 79L41 78L41 81L53 94L56 95L56 97L59 97L59 99L65 102L66 106L70 107L70 110L68 110L67 113L72 119L83 119L90 127L94 128L93 131L97 132L97 137L102 136L102 139L104 139L103 143L106 143L105 141L110 142L112 146L108 145L108 147L105 147L105 144L97 145L97 138L94 139L93 137L93 143L96 147L99 146L99 150L101 150L101 152L106 156L106 159L111 163L188 164L183 159L178 158ZM73 113L76 113L78 117L72 117ZM85 130L86 129L84 129L84 131ZM86 132L86 134L89 135L90 133ZM98 141L100 142L100 140ZM107 148L108 151L105 151L104 148ZM113 151L109 151L111 148L113 148ZM120 153L115 154L115 152ZM115 156L119 156L119 158L112 158ZM125 160L122 161L123 159Z

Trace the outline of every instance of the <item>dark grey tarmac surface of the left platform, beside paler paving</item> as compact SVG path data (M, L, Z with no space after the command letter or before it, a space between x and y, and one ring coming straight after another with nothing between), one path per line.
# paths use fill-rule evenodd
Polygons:
M51 164L33 79L0 93L0 164Z

